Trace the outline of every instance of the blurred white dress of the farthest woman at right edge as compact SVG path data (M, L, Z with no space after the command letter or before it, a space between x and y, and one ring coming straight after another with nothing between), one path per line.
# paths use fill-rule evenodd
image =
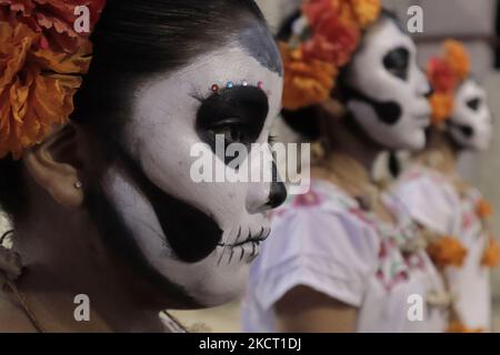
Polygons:
M467 327L490 329L489 270L481 265L488 235L476 212L480 192L471 187L460 197L439 172L414 164L400 178L392 194L430 231L460 239L468 250L463 266L447 271L450 292L457 298L456 310Z

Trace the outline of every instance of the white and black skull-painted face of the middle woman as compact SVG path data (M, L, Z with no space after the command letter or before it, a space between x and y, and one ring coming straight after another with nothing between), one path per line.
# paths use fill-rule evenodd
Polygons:
M382 19L367 32L342 84L348 109L372 140L389 149L424 146L430 87L414 43L393 20Z

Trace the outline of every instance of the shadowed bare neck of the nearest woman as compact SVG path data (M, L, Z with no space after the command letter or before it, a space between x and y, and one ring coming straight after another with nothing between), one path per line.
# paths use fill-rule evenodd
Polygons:
M143 296L150 286L113 260L87 213L46 202L43 213L37 214L36 205L30 213L44 219L22 221L14 235L26 266L17 286L42 331L162 331L160 308L151 308ZM48 213L51 207L54 213ZM77 295L88 296L89 322L74 316L84 307Z

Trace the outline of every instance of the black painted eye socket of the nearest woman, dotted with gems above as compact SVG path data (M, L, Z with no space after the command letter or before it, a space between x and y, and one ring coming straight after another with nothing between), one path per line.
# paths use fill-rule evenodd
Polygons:
M224 136L226 145L250 145L262 132L269 112L266 93L254 87L237 87L213 93L198 111L197 132L214 151L216 138Z

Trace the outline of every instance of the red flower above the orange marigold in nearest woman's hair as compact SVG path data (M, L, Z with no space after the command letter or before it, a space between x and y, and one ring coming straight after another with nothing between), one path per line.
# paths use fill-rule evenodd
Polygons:
M106 0L0 0L0 20L11 26L22 22L41 33L37 44L42 48L72 53L89 38L104 4ZM89 32L74 31L79 6L89 9Z

